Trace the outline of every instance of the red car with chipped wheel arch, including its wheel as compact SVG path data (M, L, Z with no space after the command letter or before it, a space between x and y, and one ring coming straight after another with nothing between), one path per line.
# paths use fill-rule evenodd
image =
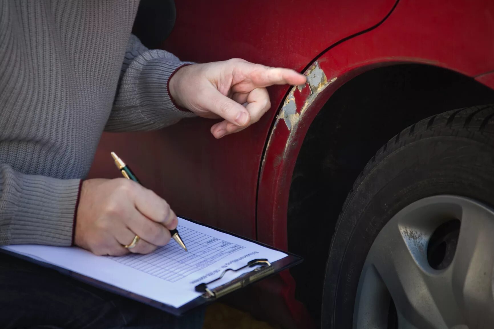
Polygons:
M114 150L177 214L304 257L230 302L284 328L493 326L494 1L143 0L134 28L308 76L240 133L184 119L97 151L91 177Z

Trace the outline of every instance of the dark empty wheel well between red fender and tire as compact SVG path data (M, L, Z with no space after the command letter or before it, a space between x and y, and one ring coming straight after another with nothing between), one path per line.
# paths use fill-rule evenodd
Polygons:
M334 224L369 159L423 118L491 103L494 91L474 79L415 64L363 73L333 94L304 138L288 203L288 250L305 259L290 270L297 282L295 295L316 319ZM299 232L308 226L312 235L305 240Z

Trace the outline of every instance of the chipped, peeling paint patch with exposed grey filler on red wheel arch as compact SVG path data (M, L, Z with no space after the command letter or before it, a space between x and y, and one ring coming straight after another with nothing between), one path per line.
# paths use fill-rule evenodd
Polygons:
M321 91L323 91L324 88L326 88L329 84L336 81L335 77L328 81L326 74L324 73L323 69L321 69L318 62L315 62L305 72L305 75L307 76L306 85L309 86L310 94L305 100L302 108L299 111L297 111L294 93L296 89L298 89L299 92L302 91L305 85L294 86L291 88L290 92L288 93L288 97L285 99L285 104L283 104L280 114L278 115L278 119L283 119L285 121L288 130L292 130L292 128L297 124L301 115L303 115L305 110L307 110L309 105L312 104L314 99L321 93Z

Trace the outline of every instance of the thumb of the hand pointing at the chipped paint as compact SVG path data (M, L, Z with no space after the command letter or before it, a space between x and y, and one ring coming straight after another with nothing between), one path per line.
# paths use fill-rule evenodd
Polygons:
M250 114L244 106L226 97L215 88L208 90L203 102L206 110L221 116L234 125L243 127L250 121Z

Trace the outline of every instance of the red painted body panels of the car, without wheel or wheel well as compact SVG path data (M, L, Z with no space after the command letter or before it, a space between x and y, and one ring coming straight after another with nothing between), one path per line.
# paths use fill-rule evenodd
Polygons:
M378 23L394 4L393 0L176 2L177 23L165 49L182 60L242 57L297 71L338 40ZM448 68L494 87L493 74L482 75L494 71L494 2L400 0L384 23L332 47L319 62L328 79L337 80L291 131L283 121L270 131L288 91L288 86L276 86L269 89L268 114L221 140L210 135L214 122L206 119L183 120L158 132L105 134L90 177L119 177L109 155L115 150L178 214L250 238L257 233L258 240L284 249L296 156L310 123L334 90L375 66L406 62ZM295 91L297 108L307 97L306 89ZM280 294L300 320L291 278L285 274L278 280L285 287Z

